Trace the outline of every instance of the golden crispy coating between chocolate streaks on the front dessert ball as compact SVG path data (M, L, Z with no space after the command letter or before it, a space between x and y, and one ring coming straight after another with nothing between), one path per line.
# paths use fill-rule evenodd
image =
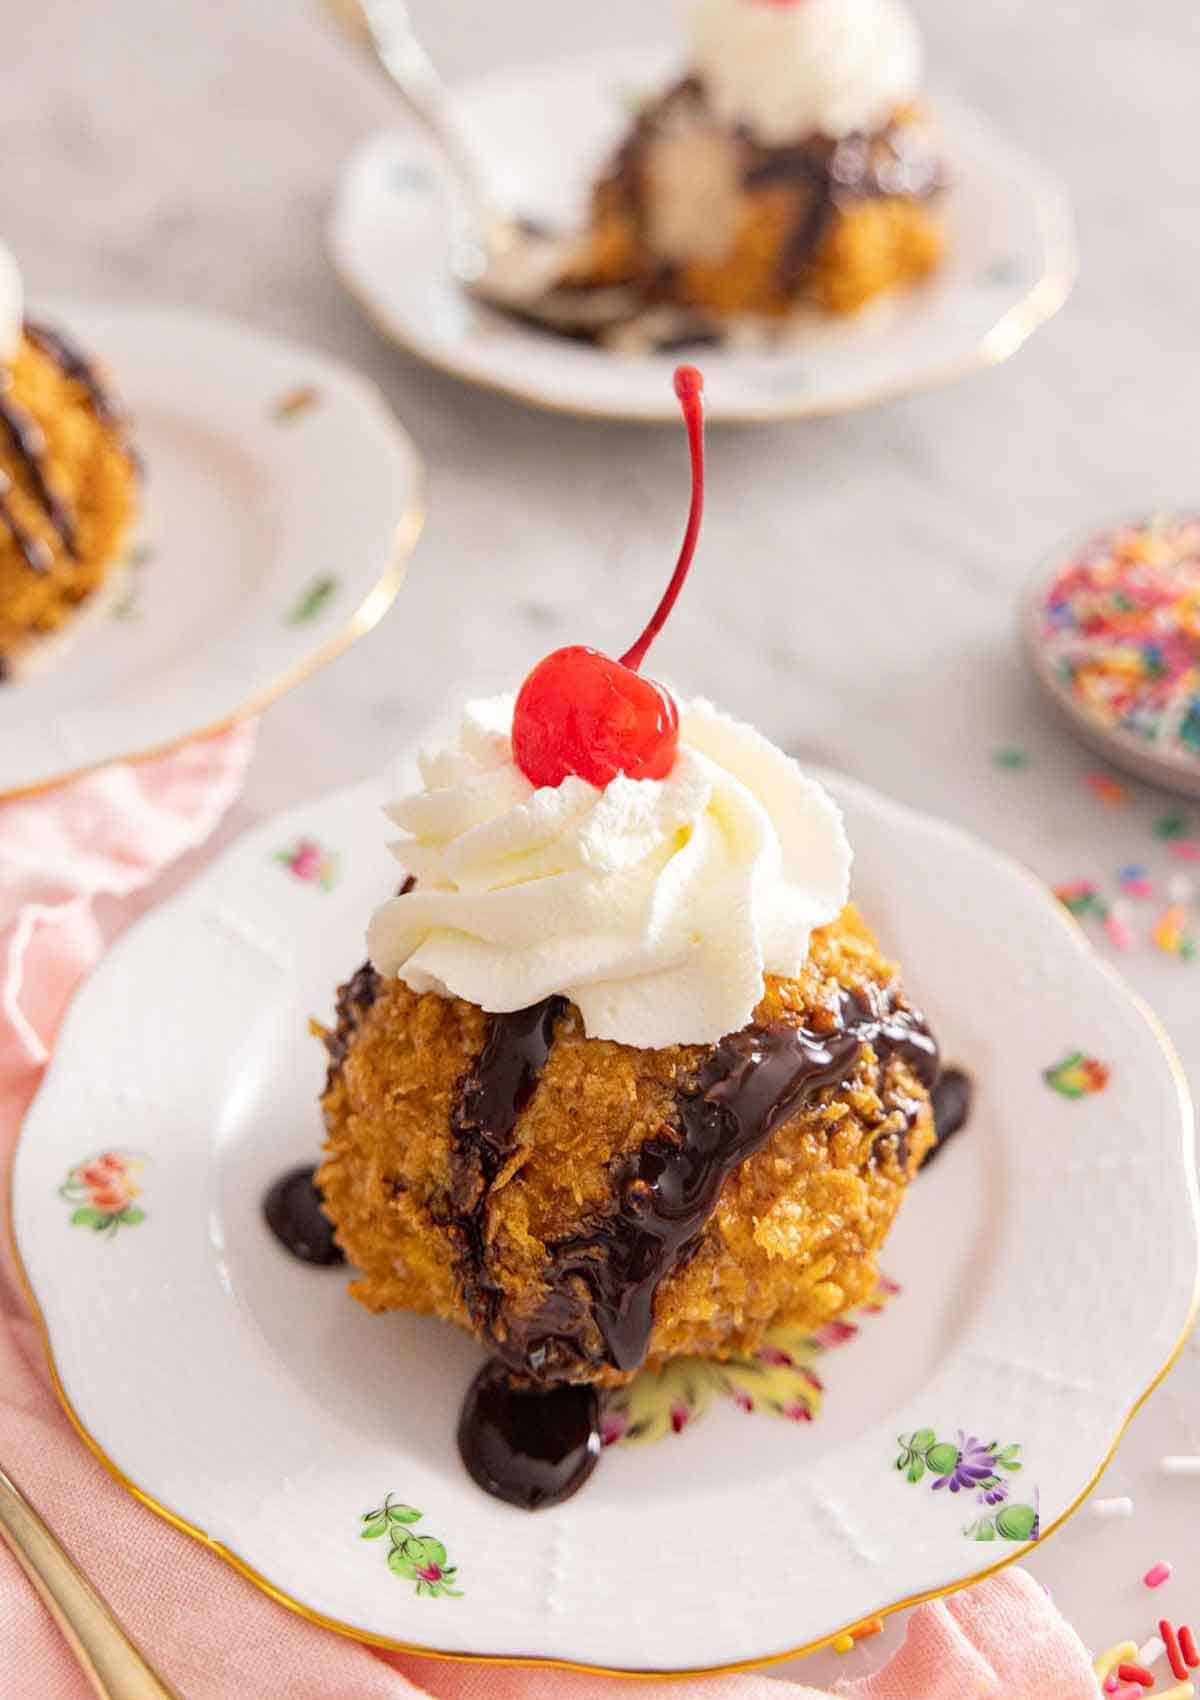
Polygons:
M768 979L760 1025L831 1025L841 989L894 988L896 972L853 908L812 937L799 979ZM371 1311L420 1311L479 1333L462 1294L452 1224L452 1115L488 1017L418 996L369 969L342 988L323 1096L318 1173L338 1241ZM614 1168L671 1125L705 1046L641 1051L586 1039L568 1006L512 1156L483 1210L500 1336L535 1316L552 1248L612 1205ZM870 1297L875 1255L935 1142L928 1091L892 1054L863 1046L848 1081L784 1122L726 1180L699 1246L659 1285L648 1362L753 1352L775 1326L816 1328ZM617 1370L595 1375L625 1380Z

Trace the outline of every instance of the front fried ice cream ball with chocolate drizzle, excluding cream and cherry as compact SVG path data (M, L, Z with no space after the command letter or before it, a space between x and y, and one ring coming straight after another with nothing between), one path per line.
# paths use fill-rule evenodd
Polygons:
M318 1175L371 1311L515 1372L612 1386L863 1304L933 1146L937 1047L853 908L716 1046L588 1039L360 969L338 993Z

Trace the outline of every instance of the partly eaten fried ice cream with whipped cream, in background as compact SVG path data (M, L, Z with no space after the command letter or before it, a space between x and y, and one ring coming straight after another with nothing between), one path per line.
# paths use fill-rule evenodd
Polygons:
M563 284L721 323L928 277L943 170L901 0L693 0L687 24L692 70L639 112Z

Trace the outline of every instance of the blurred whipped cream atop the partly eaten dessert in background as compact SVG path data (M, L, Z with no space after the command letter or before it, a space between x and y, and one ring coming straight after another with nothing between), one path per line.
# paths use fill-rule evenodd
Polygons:
M921 83L904 0L688 0L687 32L717 116L767 144L882 129Z

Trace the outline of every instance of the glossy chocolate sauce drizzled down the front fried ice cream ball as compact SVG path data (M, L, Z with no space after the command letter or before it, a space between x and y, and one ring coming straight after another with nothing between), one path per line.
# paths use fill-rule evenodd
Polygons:
M547 1290L537 1311L501 1318L501 1294L488 1278L488 1192L512 1154L517 1117L537 1086L563 1008L563 1000L549 1000L495 1017L452 1115L450 1221L461 1238L467 1307L503 1363L542 1382L637 1368L658 1287L697 1248L727 1176L777 1127L840 1086L863 1046L872 1046L880 1071L892 1056L903 1057L926 1088L938 1071L923 1017L874 986L841 993L824 1032L777 1022L731 1034L676 1093L671 1125L614 1166L608 1212L547 1248ZM904 1125L889 1125L872 1161L891 1151L908 1164L921 1103L901 1100ZM894 1115L889 1110L889 1122Z

